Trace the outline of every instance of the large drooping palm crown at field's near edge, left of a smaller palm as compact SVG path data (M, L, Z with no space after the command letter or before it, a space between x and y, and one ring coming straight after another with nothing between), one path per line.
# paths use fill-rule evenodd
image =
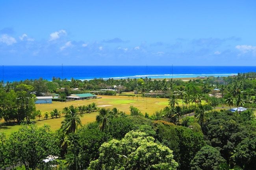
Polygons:
M74 133L78 126L82 126L81 114L76 113L74 106L69 107L70 112L65 115L65 119L61 122L61 129L66 134Z

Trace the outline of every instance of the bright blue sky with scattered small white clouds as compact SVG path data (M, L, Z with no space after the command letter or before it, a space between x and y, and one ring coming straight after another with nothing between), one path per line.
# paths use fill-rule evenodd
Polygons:
M0 1L0 65L256 65L255 0Z

